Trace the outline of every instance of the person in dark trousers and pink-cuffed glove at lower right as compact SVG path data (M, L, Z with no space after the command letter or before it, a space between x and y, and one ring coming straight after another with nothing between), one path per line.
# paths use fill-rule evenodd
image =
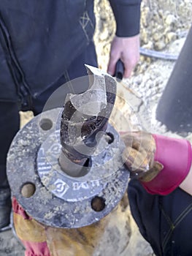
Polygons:
M192 252L192 150L184 139L126 132L128 199L139 231L158 256Z

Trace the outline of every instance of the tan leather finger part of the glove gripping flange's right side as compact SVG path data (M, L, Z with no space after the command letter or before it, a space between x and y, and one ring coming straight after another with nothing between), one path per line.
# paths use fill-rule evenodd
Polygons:
M151 181L163 169L163 165L154 161L155 140L148 132L121 132L126 149L123 161L131 173L131 178Z

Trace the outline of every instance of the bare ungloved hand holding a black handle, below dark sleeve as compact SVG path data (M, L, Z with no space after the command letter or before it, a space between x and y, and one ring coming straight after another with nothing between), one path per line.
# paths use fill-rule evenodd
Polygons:
M132 70L139 61L139 34L134 37L114 37L110 50L110 62L107 72L115 74L115 64L118 59L123 61L125 72L124 78L131 75Z

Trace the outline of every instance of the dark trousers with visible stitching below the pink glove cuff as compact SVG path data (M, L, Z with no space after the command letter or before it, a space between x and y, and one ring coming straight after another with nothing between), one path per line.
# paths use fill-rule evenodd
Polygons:
M150 195L136 179L128 198L142 236L155 255L191 256L192 197L177 188L169 195Z

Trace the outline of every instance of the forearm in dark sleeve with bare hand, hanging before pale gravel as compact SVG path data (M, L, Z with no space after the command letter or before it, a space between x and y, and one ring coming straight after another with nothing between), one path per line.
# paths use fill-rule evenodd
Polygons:
M110 0L110 4L115 15L116 32L111 44L107 72L114 75L115 64L121 59L125 67L124 78L128 78L139 61L141 0Z

